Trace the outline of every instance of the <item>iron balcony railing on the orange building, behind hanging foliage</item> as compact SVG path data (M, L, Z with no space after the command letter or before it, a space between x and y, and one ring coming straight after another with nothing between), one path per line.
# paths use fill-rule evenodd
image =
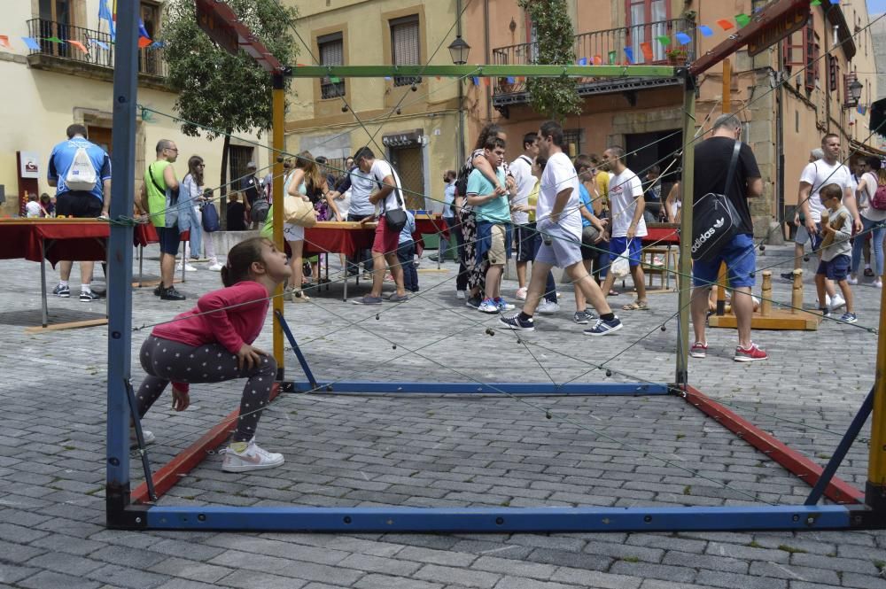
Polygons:
M574 49L576 59L588 66L623 65L627 64L625 48L633 53L635 66L660 66L673 64L682 66L696 57L696 24L687 19L657 20L632 27L610 28L575 35ZM688 35L690 42L683 45L677 38L678 33ZM670 43L665 45L660 37L667 37ZM647 56L642 43L649 43ZM496 65L530 65L538 63L539 44L520 43L499 47L493 50L493 63ZM585 80L595 81L595 80ZM513 78L498 78L495 81L494 94L525 92L525 82Z

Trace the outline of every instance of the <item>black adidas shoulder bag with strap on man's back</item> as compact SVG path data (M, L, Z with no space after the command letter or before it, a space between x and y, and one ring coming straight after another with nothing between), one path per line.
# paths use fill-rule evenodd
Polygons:
M735 142L724 193L732 186L742 143ZM724 245L738 233L742 220L726 194L708 192L692 204L692 259L715 260Z

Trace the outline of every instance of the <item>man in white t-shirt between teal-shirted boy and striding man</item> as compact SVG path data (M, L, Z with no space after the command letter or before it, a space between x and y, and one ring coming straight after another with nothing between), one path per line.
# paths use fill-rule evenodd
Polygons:
M510 162L510 174L517 182L517 196L510 201L510 217L514 221L514 244L517 246L517 298L526 300L526 265L535 258L535 236L538 232L529 224L529 194L535 188L532 162L539 155L538 136L527 133L523 137L523 154Z

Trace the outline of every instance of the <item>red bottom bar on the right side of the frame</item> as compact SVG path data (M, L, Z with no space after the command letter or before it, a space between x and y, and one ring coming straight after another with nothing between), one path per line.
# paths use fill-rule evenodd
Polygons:
M736 415L717 401L704 396L697 389L691 386L687 387L686 401L693 407L701 410L705 415L713 417L720 425L732 431L760 452L765 453L773 461L781 464L782 467L799 477L805 484L814 486L821 477L821 472L824 469L818 464L809 460L802 453L797 452L797 450L785 446L778 438L766 433L766 431L760 430L756 425ZM864 492L859 491L859 489L838 477L834 477L830 484L828 484L825 497L841 504L864 504L865 502Z

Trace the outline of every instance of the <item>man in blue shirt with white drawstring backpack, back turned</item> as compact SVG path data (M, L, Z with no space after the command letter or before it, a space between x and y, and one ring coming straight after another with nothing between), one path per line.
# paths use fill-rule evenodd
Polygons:
M58 143L50 155L47 182L56 187L56 214L59 217L95 219L106 217L111 205L111 158L107 152L86 139L86 128L74 124L67 128L67 141ZM71 296L68 279L74 262L58 263L58 284L52 294ZM99 296L92 291L95 262L80 262L80 300L91 302Z

